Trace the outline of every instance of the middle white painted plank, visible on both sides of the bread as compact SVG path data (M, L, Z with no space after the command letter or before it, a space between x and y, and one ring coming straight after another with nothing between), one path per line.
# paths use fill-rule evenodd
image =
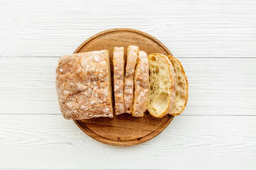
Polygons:
M5 114L61 114L55 91L58 58L0 57ZM180 58L189 82L185 115L256 115L256 59Z

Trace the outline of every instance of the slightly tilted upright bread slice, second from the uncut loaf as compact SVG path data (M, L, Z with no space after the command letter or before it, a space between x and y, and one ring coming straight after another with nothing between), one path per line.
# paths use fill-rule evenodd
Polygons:
M127 62L125 68L125 84L124 84L124 105L125 113L132 112L132 101L134 95L134 71L138 58L139 47L129 45L127 48Z

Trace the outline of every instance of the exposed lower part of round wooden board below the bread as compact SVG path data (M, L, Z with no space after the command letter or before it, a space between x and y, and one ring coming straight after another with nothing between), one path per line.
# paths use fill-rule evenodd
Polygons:
M123 113L112 119L74 120L76 125L93 139L115 146L131 146L146 142L159 135L172 122L174 116L154 118L149 113L133 117Z

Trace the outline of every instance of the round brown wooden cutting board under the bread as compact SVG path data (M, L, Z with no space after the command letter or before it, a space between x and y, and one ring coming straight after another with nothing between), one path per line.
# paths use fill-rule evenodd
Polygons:
M124 47L126 61L127 47L129 45L137 45L141 51L145 51L147 54L172 55L156 38L142 31L129 28L109 29L95 34L84 41L74 53L108 50L111 61L113 91L113 49L114 47ZM116 116L115 111L113 111L113 114L114 118L99 117L74 120L74 122L84 133L99 142L117 146L130 146L154 138L169 125L174 117L168 114L163 118L155 118L148 111L144 113L143 117L133 117L128 113Z

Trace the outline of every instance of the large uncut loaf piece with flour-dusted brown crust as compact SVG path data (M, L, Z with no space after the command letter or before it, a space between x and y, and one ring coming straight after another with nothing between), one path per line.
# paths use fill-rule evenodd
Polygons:
M113 117L108 50L61 57L56 90L65 119Z

